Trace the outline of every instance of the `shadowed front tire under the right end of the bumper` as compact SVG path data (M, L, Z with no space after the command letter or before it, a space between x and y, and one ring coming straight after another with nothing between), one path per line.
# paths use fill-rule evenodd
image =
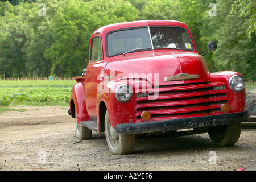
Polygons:
M214 126L208 131L209 137L217 146L230 146L235 144L241 134L241 123Z

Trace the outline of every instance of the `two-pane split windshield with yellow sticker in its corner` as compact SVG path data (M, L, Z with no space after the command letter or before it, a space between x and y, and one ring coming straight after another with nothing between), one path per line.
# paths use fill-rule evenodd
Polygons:
M106 45L109 57L150 49L193 51L193 45L187 30L171 26L152 26L113 31L108 34Z

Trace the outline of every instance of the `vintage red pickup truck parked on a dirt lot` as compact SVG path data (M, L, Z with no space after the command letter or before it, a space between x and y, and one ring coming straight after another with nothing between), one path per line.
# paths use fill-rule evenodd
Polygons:
M208 51L217 44L208 43ZM207 52L208 52L207 51ZM143 20L98 28L89 63L75 77L69 114L77 137L105 132L112 154L129 154L137 134L207 133L214 144L237 142L245 111L245 80L237 72L210 73L189 28Z

